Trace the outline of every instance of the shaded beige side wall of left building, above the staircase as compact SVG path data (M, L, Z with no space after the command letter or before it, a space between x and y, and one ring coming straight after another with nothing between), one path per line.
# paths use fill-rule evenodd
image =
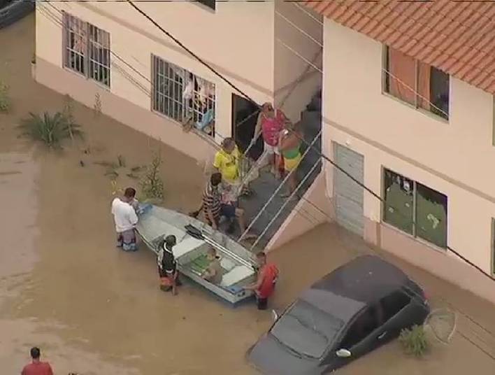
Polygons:
M321 15L313 14L313 17L322 22ZM298 8L296 3L275 1L275 104L294 122L299 121L301 111L317 89L322 87L322 73L308 64L311 62L321 70L323 27L316 20Z

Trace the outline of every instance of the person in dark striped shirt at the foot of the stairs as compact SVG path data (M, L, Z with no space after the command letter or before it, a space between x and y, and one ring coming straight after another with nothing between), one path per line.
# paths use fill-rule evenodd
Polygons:
M203 213L208 225L218 230L220 219L223 217L234 220L236 219L241 232L245 231L244 210L234 206L234 204L224 203L222 201L222 174L215 172L210 176L203 192Z

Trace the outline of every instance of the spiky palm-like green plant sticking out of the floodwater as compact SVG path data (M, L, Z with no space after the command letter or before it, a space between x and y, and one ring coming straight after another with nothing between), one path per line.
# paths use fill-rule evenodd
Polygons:
M20 125L24 131L22 135L34 141L42 141L50 148L59 148L62 141L70 136L82 136L79 127L59 112L55 115L48 112L43 115L29 113L29 118L22 120Z

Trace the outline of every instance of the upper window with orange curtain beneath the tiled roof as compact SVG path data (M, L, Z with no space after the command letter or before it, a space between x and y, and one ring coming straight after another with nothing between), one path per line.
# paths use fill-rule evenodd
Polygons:
M448 120L450 77L447 73L385 46L383 74L385 92Z

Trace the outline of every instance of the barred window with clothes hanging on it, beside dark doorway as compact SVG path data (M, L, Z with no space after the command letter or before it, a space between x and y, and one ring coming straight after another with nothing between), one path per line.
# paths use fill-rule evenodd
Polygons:
M215 85L152 55L152 108L215 135Z

